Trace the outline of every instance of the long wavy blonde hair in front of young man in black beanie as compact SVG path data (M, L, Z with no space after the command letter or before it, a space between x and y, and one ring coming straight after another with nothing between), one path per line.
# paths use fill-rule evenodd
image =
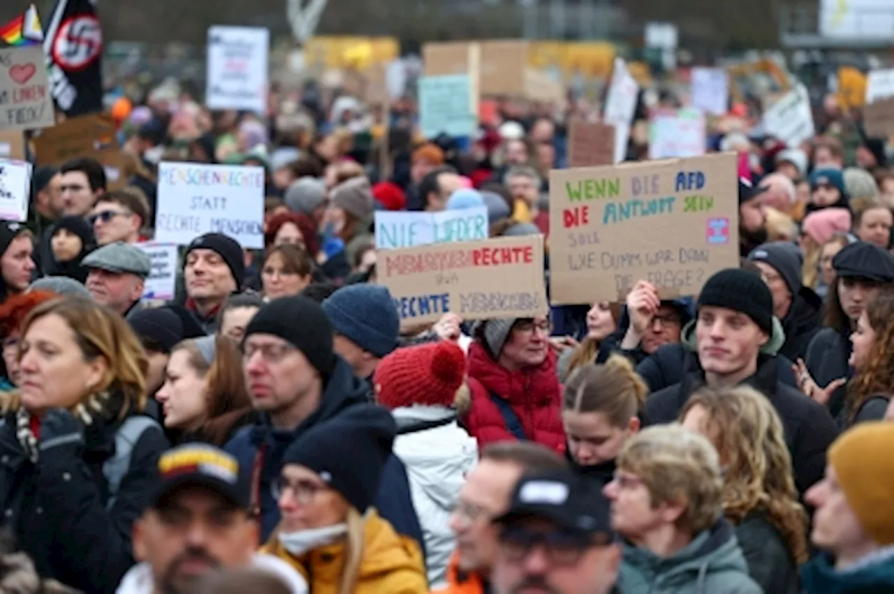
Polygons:
M797 500L782 422L770 401L747 386L703 388L689 398L680 419L695 406L708 415L707 429L726 463L723 514L738 524L755 510L763 512L792 559L806 561L807 515Z

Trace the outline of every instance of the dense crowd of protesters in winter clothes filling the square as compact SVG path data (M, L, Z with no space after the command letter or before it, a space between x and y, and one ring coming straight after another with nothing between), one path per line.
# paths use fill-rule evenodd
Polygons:
M79 156L0 222L0 590L894 591L883 142L707 138L746 163L742 261L698 295L408 329L374 213L485 206L548 249L564 121L505 101L462 147L402 104L377 137L356 100L289 105L149 96L125 188ZM267 195L266 248L194 238L164 304L135 245L161 160Z

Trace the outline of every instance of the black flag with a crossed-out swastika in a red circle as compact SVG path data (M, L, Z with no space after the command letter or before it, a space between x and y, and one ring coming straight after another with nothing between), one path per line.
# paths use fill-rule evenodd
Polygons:
M44 35L50 90L68 117L103 111L103 30L96 0L56 0Z

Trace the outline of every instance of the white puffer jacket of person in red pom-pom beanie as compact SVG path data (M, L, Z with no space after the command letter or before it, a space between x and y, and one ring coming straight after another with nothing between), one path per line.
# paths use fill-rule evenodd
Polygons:
M457 424L456 412L449 408L409 406L395 408L392 414L399 428L393 451L407 467L410 496L426 543L428 583L432 589L442 587L455 544L451 510L466 475L477 464L477 441Z

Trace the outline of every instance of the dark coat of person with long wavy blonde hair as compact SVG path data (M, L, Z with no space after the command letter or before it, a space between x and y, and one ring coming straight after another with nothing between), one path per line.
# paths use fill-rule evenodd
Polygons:
M736 538L748 564L748 574L764 592L798 594L795 559L782 535L765 515L752 512L736 526Z

